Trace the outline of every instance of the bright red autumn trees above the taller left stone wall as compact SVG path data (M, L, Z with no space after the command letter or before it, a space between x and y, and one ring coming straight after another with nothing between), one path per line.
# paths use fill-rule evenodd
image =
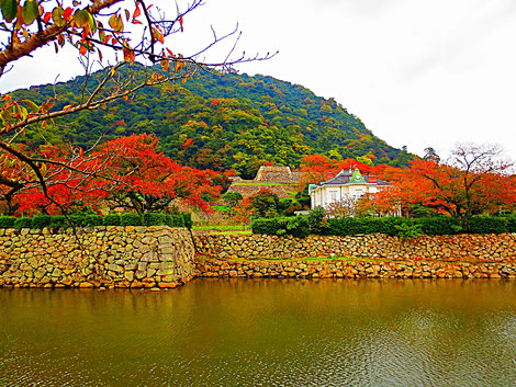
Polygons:
M227 174L182 167L157 147L157 137L145 134L104 143L89 157L77 148L42 147L37 155L52 161L43 169L46 195L34 171L4 153L0 160L3 175L21 184L19 190L0 185L0 208L10 215L55 215L89 205L143 214L162 210L178 200L211 212L209 201L220 196Z

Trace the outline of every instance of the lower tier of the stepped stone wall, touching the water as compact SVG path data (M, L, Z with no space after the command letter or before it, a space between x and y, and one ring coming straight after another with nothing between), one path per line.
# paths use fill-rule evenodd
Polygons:
M516 278L515 263L197 259L195 276L278 278Z

